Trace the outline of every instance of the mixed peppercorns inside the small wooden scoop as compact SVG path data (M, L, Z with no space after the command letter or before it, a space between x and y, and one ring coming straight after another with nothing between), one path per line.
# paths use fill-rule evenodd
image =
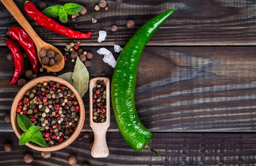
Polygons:
M93 88L93 122L106 122L106 84L97 80Z

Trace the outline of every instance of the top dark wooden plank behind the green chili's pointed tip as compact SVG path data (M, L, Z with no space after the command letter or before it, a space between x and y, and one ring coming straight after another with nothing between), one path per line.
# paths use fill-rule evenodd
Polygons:
M39 1L33 1L38 3ZM124 1L118 5L115 1L107 1L108 11L94 10L97 0L74 1L88 8L88 13L77 18L76 22L69 21L65 26L74 28L78 24L83 33L92 32L90 39L83 39L83 46L113 46L113 44L125 45L131 35L147 20L157 14L176 8L177 11L166 21L152 37L149 46L227 46L227 45L255 45L256 20L255 1L238 0L200 0L200 1ZM23 9L22 0L16 0L17 6L22 10L26 18L45 42L56 46L64 46L70 41L67 37L52 33L38 26L29 18ZM47 6L63 5L66 1L47 1ZM18 26L13 17L0 3L0 46L5 46L6 33L10 26ZM91 24L91 18L98 20L97 24ZM125 24L133 19L135 27L128 29ZM119 28L115 33L111 32L111 26L116 24ZM106 41L97 42L98 31L106 30Z

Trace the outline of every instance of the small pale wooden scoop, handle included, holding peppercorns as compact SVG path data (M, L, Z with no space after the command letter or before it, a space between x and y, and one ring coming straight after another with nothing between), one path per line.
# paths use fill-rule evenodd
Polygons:
M93 88L97 86L97 80L104 80L106 84L106 122L93 122ZM109 148L106 145L106 130L110 125L110 82L106 77L95 77L90 80L90 127L93 129L94 142L91 154L94 158L106 158L109 156Z

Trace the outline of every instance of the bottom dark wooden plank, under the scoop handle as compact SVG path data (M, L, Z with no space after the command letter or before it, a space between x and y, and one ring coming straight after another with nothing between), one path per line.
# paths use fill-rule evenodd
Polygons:
M80 134L82 136L83 133ZM89 138L75 140L59 151L51 152L45 159L40 151L19 146L13 132L0 133L0 165L24 165L24 154L33 154L31 165L68 165L68 158L77 156L78 165L254 165L256 162L255 133L153 133L151 147L161 157L148 150L134 151L122 139L120 133L107 133L109 146L107 158L93 158L90 155ZM13 143L13 151L3 151L6 142Z

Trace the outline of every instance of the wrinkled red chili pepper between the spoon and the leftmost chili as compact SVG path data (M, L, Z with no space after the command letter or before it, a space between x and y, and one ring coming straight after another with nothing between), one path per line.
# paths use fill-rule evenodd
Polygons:
M32 65L33 71L35 74L38 73L38 55L35 51L35 44L33 43L32 39L29 35L19 27L10 27L9 35L14 40L17 40L19 44L22 45L24 50L26 51L26 55L29 57L29 61Z

